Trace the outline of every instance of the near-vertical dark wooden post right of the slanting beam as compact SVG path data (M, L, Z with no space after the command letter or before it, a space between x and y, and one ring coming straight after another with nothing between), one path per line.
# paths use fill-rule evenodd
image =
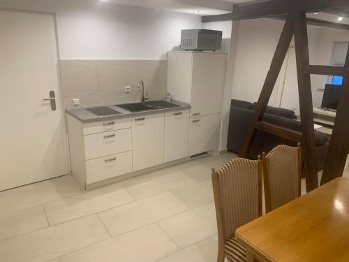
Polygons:
M313 98L311 94L311 77L305 73L309 66L308 31L306 13L295 15L295 49L299 92L299 107L302 119L302 153L304 156L303 172L306 177L306 191L318 188L318 172L315 157L315 131L313 122Z

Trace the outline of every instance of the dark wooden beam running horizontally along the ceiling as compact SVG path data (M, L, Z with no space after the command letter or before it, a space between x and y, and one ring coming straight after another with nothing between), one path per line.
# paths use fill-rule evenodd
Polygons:
M223 15L207 15L202 22L218 22L227 20L247 20L262 17L275 17L295 12L322 12L349 8L348 0L269 0L257 3L234 5L233 13Z

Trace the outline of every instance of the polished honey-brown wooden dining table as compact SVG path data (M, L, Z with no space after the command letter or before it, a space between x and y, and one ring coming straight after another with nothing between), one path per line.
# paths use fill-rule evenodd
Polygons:
M349 180L337 178L235 234L248 261L349 261Z

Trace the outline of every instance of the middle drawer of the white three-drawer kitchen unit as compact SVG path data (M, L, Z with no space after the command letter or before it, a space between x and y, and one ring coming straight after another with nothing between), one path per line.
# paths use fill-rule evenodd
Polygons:
M131 129L84 136L85 159L96 159L132 150Z

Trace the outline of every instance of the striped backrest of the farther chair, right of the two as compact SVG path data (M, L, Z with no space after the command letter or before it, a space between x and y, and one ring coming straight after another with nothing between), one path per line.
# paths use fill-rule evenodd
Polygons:
M263 154L265 210L270 212L301 196L302 148L279 145Z

